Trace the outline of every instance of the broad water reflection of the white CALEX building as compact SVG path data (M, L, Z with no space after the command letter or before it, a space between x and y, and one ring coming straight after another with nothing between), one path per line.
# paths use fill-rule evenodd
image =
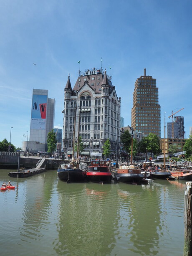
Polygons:
M111 255L117 229L112 190L111 184L74 188L58 181L58 238L53 243L58 255Z

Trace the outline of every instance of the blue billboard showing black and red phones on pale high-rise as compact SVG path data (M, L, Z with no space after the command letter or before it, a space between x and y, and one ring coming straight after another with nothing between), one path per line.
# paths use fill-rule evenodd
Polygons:
M33 94L30 129L46 129L47 95Z

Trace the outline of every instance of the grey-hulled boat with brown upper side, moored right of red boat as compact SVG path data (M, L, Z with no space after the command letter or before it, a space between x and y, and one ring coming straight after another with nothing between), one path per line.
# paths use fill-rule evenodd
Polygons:
M115 181L136 183L144 178L144 174L141 174L141 169L137 169L134 165L120 165L118 169L112 170L112 176Z

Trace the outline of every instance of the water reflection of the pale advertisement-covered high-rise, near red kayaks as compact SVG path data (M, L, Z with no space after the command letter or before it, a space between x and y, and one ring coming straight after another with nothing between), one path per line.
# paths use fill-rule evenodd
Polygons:
M20 227L21 241L41 241L50 222L51 197L54 183L50 178L45 179L45 173L28 177L25 180L25 202L23 205Z

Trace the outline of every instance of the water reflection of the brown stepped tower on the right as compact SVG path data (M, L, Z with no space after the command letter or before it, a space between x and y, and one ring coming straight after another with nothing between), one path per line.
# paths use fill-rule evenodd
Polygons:
M161 229L159 193L153 185L118 184L121 233L128 238L127 250L139 255L157 255ZM145 189L146 188L146 189ZM155 214L154 214L155 213ZM123 237L121 239L124 240Z

